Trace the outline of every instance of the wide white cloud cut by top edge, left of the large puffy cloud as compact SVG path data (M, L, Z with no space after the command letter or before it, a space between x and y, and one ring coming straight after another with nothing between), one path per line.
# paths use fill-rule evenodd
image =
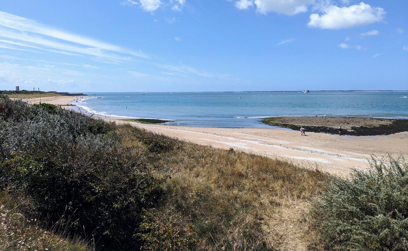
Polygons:
M285 15L295 15L307 11L309 5L315 0L238 0L235 7L238 9L248 9L253 4L259 13L277 12Z

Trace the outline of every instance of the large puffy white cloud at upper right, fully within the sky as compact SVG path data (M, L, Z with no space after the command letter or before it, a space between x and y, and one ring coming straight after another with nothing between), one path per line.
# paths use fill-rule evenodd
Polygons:
M386 11L380 7L371 7L361 2L349 7L331 5L321 10L322 15L310 15L308 27L320 29L346 29L364 26L383 20Z

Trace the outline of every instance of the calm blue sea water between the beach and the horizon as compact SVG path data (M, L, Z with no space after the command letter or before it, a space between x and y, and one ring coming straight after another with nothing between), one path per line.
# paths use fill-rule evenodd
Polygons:
M182 126L266 127L261 118L315 114L408 118L408 92L86 94L89 99L73 104L88 113L169 119Z

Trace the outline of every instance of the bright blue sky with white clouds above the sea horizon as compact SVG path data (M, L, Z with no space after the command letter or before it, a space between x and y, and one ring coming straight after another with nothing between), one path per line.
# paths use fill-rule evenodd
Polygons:
M407 0L2 0L0 89L407 90Z

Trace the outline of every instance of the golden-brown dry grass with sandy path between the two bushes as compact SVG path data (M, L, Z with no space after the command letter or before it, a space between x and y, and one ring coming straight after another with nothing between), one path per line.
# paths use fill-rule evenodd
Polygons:
M140 130L124 125L118 134L140 147ZM303 213L322 191L326 174L233 149L181 141L177 146L151 162L160 167L157 175L171 177L163 208L192 219L197 250L306 250L313 242Z

